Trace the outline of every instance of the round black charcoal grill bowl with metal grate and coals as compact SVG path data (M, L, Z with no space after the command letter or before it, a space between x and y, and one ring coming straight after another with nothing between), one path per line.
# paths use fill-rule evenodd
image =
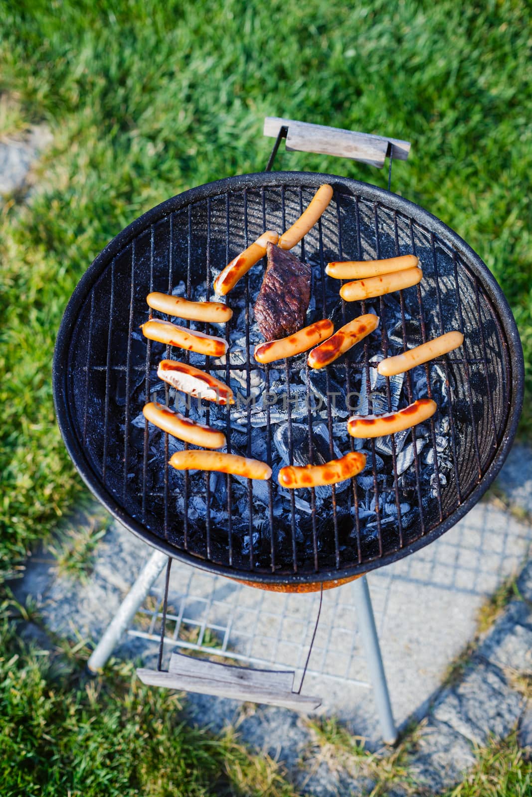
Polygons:
M286 127L279 131L272 159L283 135ZM404 157L400 144L392 139L386 143L390 178L392 157ZM357 154L352 156L357 158ZM367 156L366 162L376 163L372 158ZM360 155L358 159L364 160ZM148 292L171 292L182 281L184 295L212 298L212 281L219 269L263 230L290 226L322 183L333 186L333 200L294 249L313 266L315 317L333 315L345 323L373 307L381 319L378 338L356 347L345 358L343 376L335 371L333 381L340 378L347 395L360 399L364 393L366 411L374 408L376 398L382 410L392 409L390 379L384 380L378 395L372 391L375 355L386 356L397 345L389 338L391 312L398 318L394 334L400 335L401 349L451 329L463 332L464 344L424 367L426 395L432 396L436 369L438 389L446 396L446 427L438 425L436 415L425 430L428 450L432 450L430 464L426 457L422 459L418 433L412 430L413 461L408 478L402 478L397 464L400 450L392 436L388 482L383 488L380 454L372 440L365 472L370 486L366 479L361 489L356 477L349 489L333 487L321 502L312 491L306 499L310 511L306 507L301 511L298 496L282 497L274 479L258 499L251 481L242 487L234 477L223 477L222 483L209 474L175 473L167 465L168 435L154 438L148 422L140 427L133 422L144 402L173 398L167 386L156 384L156 364L164 356L179 359L180 355L142 339L138 328L152 316L146 304ZM392 300L340 303L337 281L325 275L329 260L410 252L420 257L424 280ZM254 371L260 370L250 360L252 306L262 270L260 265L252 270L228 296L229 304L240 310L227 325L227 340L231 341L234 324L241 324L245 361L235 366L229 359L227 363L202 359L202 367L227 383L234 372L243 373L243 385L235 386L242 395L242 430L235 431L231 423L234 408L204 406L200 417L203 422L223 424L229 451L253 455L260 439L264 452L259 458L274 464L275 424L270 406L264 408L263 426L250 422L254 413L251 380ZM198 328L216 334L208 325ZM307 399L311 392L305 358L301 355L274 366L264 367L263 385L270 391L272 370L276 383L284 385L290 461L296 424L308 428L311 461L314 429L317 424L325 426L333 457L338 419L336 398L331 398L331 367L325 373L321 415L309 403L305 414L294 418L291 394L295 386L306 386ZM266 171L179 194L136 219L105 247L66 308L57 336L53 387L61 433L81 477L130 531L165 556L195 567L256 586L304 591L316 585L335 586L408 556L463 517L491 485L510 450L522 406L523 374L518 331L499 285L471 247L438 218L389 190L354 179ZM406 375L401 402L420 398L419 383L412 373ZM438 445L441 438L445 438L445 466ZM353 447L347 434L339 442L342 453ZM384 490L387 504L381 495ZM225 494L223 508L213 511L220 493ZM284 508L279 514L280 500ZM395 522L389 521L392 511Z

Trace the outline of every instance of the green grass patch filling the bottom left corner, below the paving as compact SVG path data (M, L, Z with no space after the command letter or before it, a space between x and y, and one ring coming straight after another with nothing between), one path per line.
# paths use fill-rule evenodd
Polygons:
M7 622L0 650L2 797L294 795L268 756L185 725L179 695L130 664L88 681L80 654L21 646Z

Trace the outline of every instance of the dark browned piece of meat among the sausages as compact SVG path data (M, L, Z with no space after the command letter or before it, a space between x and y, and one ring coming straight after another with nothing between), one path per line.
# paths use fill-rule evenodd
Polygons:
M255 320L266 340L298 332L310 301L310 266L278 246L266 245L268 265L255 302Z

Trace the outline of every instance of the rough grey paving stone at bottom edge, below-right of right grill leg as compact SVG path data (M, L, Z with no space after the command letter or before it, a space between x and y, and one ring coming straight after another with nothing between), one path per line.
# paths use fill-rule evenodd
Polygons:
M432 718L408 768L416 783L439 793L458 783L473 764L475 756L467 739L445 722Z

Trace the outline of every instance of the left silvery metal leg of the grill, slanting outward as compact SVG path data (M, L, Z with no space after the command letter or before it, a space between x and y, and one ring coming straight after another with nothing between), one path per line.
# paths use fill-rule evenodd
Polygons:
M152 588L153 583L160 575L164 565L167 563L168 557L160 551L154 551L148 562L144 565L143 570L140 571L136 582L125 596L115 616L109 623L107 630L103 637L98 642L93 650L93 654L87 662L87 669L89 673L96 674L99 669L104 667L112 651L118 644L120 637L127 629L129 622L135 616L141 603L148 595Z

